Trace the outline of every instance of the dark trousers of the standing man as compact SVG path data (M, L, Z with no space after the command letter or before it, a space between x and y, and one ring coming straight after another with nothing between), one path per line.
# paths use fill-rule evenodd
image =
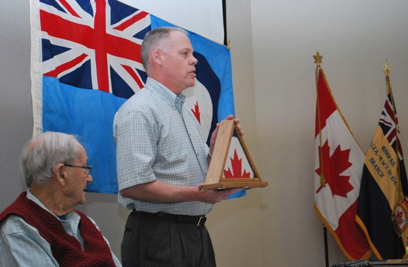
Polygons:
M133 210L121 246L124 267L215 267L207 228Z

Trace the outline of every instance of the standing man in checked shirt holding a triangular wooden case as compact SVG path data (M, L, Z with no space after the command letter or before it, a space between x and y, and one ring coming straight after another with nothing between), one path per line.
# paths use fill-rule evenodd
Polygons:
M240 189L198 189L205 182L219 124L208 148L198 121L183 105L181 92L195 84L193 47L184 30L157 28L146 34L141 58L146 88L129 98L113 121L118 201L133 209L125 226L122 264L215 266L205 215Z

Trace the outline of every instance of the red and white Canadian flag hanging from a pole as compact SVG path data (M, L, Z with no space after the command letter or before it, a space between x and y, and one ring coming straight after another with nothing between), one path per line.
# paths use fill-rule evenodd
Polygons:
M355 141L326 82L317 79L315 205L318 217L349 260L367 259L370 247L355 222L364 152Z

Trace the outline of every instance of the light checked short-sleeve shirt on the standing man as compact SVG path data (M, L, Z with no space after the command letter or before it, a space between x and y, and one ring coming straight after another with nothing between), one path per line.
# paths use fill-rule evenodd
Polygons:
M146 87L117 111L113 137L119 191L156 179L185 186L205 182L209 149L184 99L148 78ZM148 203L120 194L118 201L128 209L182 215L204 215L212 208L204 202Z

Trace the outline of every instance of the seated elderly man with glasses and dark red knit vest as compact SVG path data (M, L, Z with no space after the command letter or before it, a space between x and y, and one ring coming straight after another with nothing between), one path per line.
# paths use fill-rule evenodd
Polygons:
M74 136L44 132L20 164L28 191L0 214L0 266L121 266L92 219L78 210L92 182Z

